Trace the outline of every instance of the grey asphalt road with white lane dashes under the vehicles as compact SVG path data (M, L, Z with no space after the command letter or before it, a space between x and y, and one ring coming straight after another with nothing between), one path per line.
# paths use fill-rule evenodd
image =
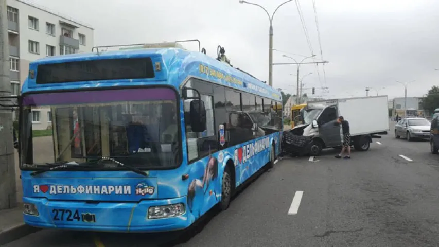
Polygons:
M284 158L186 232L42 230L5 246L439 246L439 155L428 142L391 132L351 160L335 154Z

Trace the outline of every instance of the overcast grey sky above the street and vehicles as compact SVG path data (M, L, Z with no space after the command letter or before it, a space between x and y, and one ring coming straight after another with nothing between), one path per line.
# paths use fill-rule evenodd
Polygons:
M95 45L153 43L199 39L207 54L216 56L221 45L235 67L268 81L267 14L238 0L38 0L95 28ZM284 0L253 0L271 14ZM311 46L321 58L311 0L300 1ZM380 95L422 96L439 79L439 1L437 0L315 0L323 67L320 80L313 64L301 66L304 87L327 86L326 98L364 96L365 87ZM274 16L273 62L293 62L310 56L294 1ZM196 46L185 45L195 49ZM306 61L311 61L307 59ZM320 61L320 60L315 60ZM273 86L295 94L296 65L275 65ZM293 84L294 86L289 86ZM305 91L310 93L310 91ZM371 91L371 94L376 94Z

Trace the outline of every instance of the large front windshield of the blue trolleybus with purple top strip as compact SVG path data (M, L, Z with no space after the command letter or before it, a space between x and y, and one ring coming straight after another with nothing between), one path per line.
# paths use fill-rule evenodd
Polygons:
M89 164L81 169L91 169L102 157L140 169L179 166L176 97L169 88L25 95L22 168ZM43 117L49 124L32 129Z

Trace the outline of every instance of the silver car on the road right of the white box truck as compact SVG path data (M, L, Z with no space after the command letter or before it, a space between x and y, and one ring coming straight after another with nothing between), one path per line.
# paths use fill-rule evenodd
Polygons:
M409 141L413 138L430 138L430 121L423 117L403 118L395 125L395 137L400 136Z

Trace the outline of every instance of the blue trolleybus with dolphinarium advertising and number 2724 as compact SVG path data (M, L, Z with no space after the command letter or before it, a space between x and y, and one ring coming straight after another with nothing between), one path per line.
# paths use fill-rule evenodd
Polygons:
M226 209L241 184L276 162L281 102L280 92L205 51L31 62L19 97L24 221L186 228L214 206Z

